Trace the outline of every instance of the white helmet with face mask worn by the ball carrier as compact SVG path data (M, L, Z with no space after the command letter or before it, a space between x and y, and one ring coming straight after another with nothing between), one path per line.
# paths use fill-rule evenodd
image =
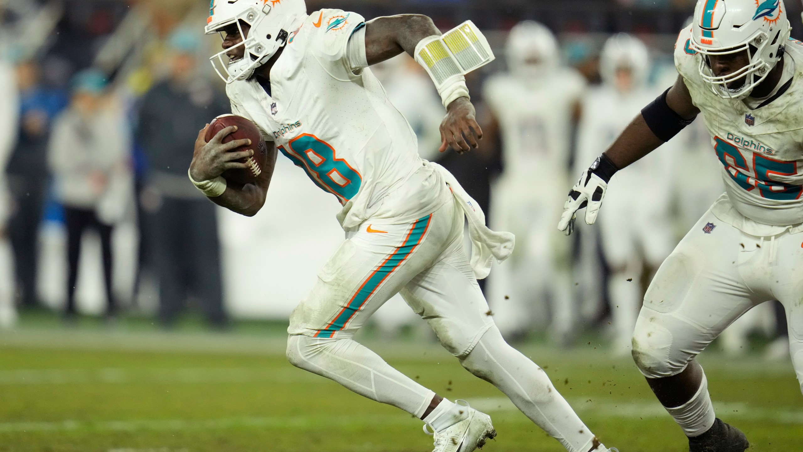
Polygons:
M210 0L206 34L221 32L236 23L243 36L238 46L245 47L245 55L240 60L228 60L226 52L230 48L212 56L214 70L226 84L246 80L287 43L290 32L300 27L306 17L304 0ZM251 26L247 38L242 23Z

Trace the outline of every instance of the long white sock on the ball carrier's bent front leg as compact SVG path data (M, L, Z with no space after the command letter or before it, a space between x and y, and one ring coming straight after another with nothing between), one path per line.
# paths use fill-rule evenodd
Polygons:
M335 380L363 397L419 418L435 396L352 339L291 335L287 339L287 360L297 368Z

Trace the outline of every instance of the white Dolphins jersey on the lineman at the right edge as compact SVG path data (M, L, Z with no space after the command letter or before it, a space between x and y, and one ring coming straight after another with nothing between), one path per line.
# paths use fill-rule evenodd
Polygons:
M702 55L689 47L690 39L691 26L675 44L675 67L703 113L733 208L760 224L803 223L803 43L790 39L785 46L784 70L793 72L789 88L750 109L711 91L699 75Z

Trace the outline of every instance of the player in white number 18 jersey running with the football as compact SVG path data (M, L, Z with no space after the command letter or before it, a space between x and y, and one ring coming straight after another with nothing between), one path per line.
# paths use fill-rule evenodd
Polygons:
M479 42L470 24L459 30L466 37L458 44ZM434 432L435 451L483 446L495 436L490 417L438 396L353 340L369 316L401 292L464 368L495 384L567 450L607 450L545 372L504 342L491 319L476 277L487 276L494 258L507 257L512 234L485 228L479 206L448 171L418 157L410 126L368 68L406 51L438 72L434 80L446 106L442 150L476 147L482 132L475 109L430 18L406 14L366 22L343 10L308 15L302 0L216 0L206 31L225 35L213 60L230 58L219 69L233 113L259 125L274 156L281 150L343 205L337 219L346 240L291 314L291 364L421 418ZM227 153L247 144L222 144L231 129L208 143L201 131L190 179L214 203L253 216L265 201L270 171L245 186L220 178L227 168L242 167L235 158L251 154ZM471 261L463 252L464 218Z

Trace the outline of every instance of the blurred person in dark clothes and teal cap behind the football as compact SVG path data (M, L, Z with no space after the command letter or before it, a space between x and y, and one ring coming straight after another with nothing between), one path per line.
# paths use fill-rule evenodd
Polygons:
M187 179L198 130L230 113L226 97L196 71L201 45L193 29L169 37L170 76L142 100L137 140L149 161L141 203L159 277L159 316L172 326L189 295L200 301L214 327L226 325L222 305L220 244L215 206Z

